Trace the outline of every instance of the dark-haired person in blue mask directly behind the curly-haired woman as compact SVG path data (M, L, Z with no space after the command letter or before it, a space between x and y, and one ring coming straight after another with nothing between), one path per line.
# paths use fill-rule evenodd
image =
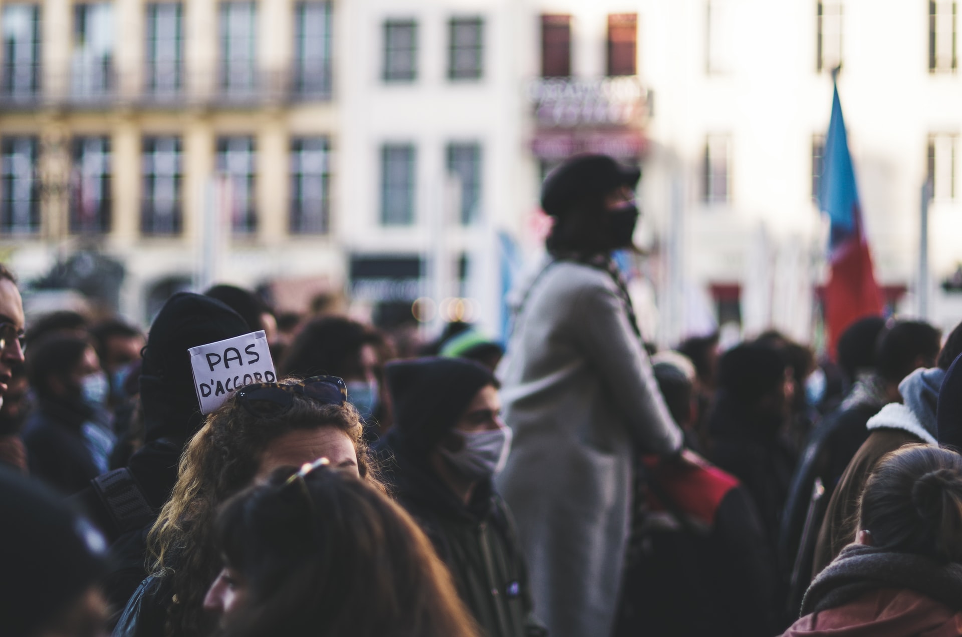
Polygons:
M380 431L375 425L385 405L377 353L380 341L372 328L356 320L314 318L301 328L279 370L302 377L331 374L343 378L351 403L368 424L368 440L376 440Z

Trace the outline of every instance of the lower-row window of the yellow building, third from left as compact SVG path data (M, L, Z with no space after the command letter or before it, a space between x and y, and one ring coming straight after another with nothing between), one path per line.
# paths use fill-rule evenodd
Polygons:
M179 137L144 138L140 169L143 190L140 200L140 232L144 235L178 235L183 228Z

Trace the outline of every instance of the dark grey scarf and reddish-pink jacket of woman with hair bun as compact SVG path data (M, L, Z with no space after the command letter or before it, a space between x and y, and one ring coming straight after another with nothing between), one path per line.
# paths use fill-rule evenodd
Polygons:
M962 565L849 545L820 573L785 637L962 633Z

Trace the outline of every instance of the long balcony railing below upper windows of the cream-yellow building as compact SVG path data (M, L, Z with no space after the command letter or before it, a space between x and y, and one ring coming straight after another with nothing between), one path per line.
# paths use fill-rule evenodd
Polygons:
M305 77L292 70L256 70L243 77L242 82L229 82L217 71L184 72L173 81L158 83L144 79L150 77L147 71L135 75L110 68L96 70L60 77L39 74L38 82L32 86L0 82L0 109L257 108L331 99L329 74Z

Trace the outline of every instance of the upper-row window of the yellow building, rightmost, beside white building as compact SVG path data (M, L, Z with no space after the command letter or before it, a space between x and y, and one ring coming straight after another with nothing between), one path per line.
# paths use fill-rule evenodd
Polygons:
M301 2L294 8L294 89L300 95L331 95L331 3Z

